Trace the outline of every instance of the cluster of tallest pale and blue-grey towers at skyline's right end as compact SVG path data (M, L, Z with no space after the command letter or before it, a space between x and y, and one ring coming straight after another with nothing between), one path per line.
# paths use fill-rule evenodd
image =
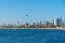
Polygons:
M65 28L65 17L54 18L53 25L54 27Z

